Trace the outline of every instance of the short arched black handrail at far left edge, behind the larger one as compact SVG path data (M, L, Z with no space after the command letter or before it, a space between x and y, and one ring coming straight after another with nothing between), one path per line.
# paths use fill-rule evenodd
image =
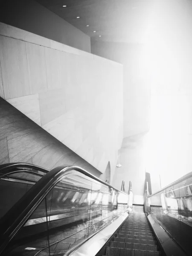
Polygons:
M34 169L37 171L41 171L41 172L46 172L48 173L49 170L42 168L40 166L36 166L34 164L30 164L30 163L6 163L6 164L2 164L0 165L0 174L4 175L6 173L9 173L11 169L16 168L18 170L21 169L25 169L25 168L29 168L29 169Z

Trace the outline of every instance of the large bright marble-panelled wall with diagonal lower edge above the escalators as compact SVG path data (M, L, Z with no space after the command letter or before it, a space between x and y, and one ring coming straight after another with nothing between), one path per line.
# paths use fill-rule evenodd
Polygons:
M123 136L121 64L0 23L0 67L3 99L100 172L110 161L113 175ZM30 160L31 148L19 152L26 150Z

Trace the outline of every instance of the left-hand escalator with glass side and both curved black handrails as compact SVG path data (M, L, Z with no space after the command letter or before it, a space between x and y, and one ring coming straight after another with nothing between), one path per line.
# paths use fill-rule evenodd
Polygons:
M3 256L64 255L128 215L127 194L76 166L0 166L0 195Z

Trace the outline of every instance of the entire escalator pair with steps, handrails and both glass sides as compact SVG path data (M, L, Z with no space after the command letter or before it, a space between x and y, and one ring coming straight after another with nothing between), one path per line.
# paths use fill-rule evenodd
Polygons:
M0 256L190 255L166 227L172 226L172 208L162 191L147 193L144 208L132 206L130 191L128 196L77 166L48 171L15 163L0 166L0 195ZM177 229L181 221L174 221Z

